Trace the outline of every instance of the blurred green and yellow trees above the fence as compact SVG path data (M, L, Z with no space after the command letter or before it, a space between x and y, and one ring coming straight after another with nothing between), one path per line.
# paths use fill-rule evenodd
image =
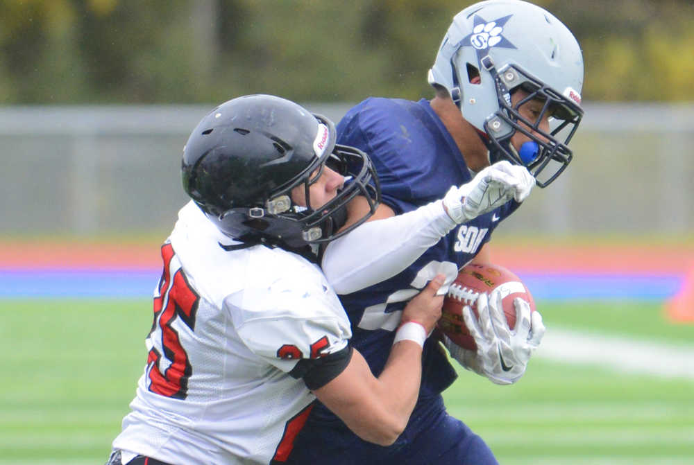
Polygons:
M430 96L462 0L1 0L10 104ZM691 101L691 0L536 0L584 49L585 100Z

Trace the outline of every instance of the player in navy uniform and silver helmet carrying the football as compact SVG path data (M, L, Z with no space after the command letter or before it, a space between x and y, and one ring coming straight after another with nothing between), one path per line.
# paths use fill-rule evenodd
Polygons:
M436 274L448 284L467 263L489 261L492 231L534 184L548 186L568 166L567 144L583 115L579 44L559 19L525 1L482 1L459 12L428 80L432 100L368 98L337 127L341 143L371 156L382 204L369 222L326 247L323 272L347 310L352 344L375 374L406 302ZM358 198L350 203L347 224L366 207ZM479 319L464 309L486 351L446 337L443 346L493 383L515 383L545 331L539 312L531 315L521 299L515 305L513 330L494 292L477 302ZM446 412L441 392L456 376L431 337L418 402L395 444L360 440L319 404L288 463L497 464L489 446Z

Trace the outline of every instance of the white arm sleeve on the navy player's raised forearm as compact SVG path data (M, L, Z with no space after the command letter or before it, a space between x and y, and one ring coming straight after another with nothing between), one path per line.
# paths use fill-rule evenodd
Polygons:
M405 270L453 227L440 200L366 222L328 244L323 273L338 294L355 292Z

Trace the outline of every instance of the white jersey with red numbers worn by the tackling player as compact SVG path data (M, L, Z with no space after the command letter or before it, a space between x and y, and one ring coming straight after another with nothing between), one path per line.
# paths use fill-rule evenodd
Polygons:
M113 441L170 464L268 464L314 396L289 371L344 349L349 320L323 273L279 248L233 244L193 203L162 246L149 351Z

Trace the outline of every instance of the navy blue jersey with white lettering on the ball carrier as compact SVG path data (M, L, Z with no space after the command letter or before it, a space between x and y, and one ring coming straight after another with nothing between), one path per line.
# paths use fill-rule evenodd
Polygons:
M337 143L369 154L380 179L383 202L396 214L439 200L450 186L471 180L455 141L428 100L369 98L350 109L337 125L337 133ZM499 222L516 208L518 203L511 200L459 225L395 277L340 296L352 325L350 344L362 353L375 376L380 375L389 357L400 322L397 310L403 310L437 273L455 277L489 241ZM420 404L437 396L456 376L440 344L432 339L424 346L420 400L413 419ZM329 420L332 413L319 406L313 415Z

